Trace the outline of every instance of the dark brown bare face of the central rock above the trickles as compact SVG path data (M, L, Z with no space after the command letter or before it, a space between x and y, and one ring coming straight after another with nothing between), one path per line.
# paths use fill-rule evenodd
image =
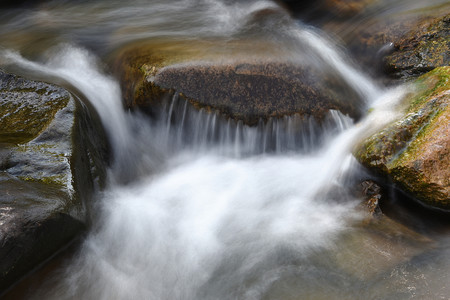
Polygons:
M219 110L250 125L291 114L322 119L330 109L359 117L355 103L326 95L311 74L286 64L175 66L161 69L148 82L180 92L196 107Z

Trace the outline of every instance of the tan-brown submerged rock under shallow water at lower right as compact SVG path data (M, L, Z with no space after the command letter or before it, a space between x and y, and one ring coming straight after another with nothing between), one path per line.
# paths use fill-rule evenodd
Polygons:
M436 243L386 215L344 233L330 257L340 274L371 281L436 247Z

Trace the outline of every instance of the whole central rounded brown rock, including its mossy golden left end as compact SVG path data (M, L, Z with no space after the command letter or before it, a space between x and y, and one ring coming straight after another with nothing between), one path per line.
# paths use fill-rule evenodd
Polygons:
M198 45L184 43L177 52L180 46L174 44L131 48L120 55L118 72L128 107L152 113L163 99L179 93L198 109L248 125L292 114L322 120L331 109L360 117L361 99L336 74L267 57L220 60L217 54L199 55ZM247 51L257 52L258 45L253 46Z

